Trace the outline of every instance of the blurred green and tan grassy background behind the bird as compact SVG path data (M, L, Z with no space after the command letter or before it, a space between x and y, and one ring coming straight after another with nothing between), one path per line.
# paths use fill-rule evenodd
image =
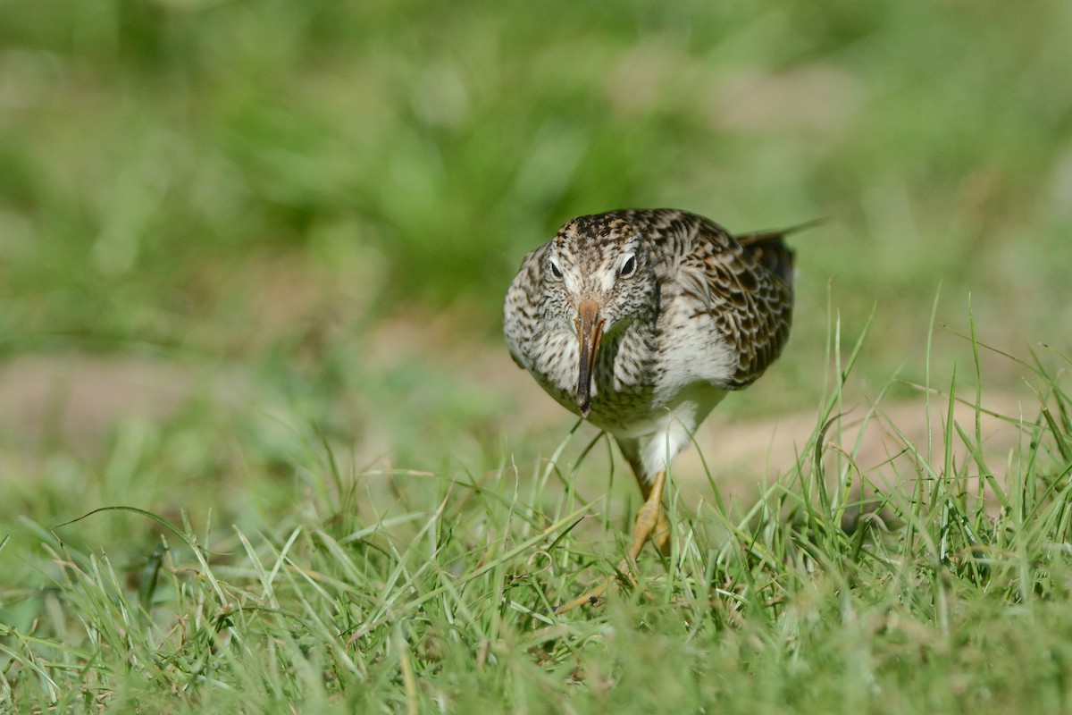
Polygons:
M982 340L1067 352L1069 38L1061 0L2 0L0 518L241 518L324 438L355 471L547 453L569 420L500 306L579 213L831 219L729 415L815 404L828 300L845 342L876 310L873 390L922 379L939 285L939 323L970 294Z

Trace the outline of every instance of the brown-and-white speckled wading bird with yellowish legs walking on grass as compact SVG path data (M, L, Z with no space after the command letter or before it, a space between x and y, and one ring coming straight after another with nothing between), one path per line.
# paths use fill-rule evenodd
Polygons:
M567 221L525 255L503 307L513 360L563 407L617 443L644 498L614 576L555 609L597 604L634 582L651 539L669 554L662 492L670 463L730 391L780 355L793 310L794 254L810 224L733 236L678 209L622 209Z

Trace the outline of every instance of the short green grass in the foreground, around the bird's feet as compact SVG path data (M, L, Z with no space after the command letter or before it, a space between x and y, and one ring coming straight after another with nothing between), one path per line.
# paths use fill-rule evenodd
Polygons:
M709 473L710 500L670 500L672 555L645 552L637 589L566 616L551 609L625 548L629 515L589 492L606 479L585 463L599 440L414 473L362 472L341 445L293 435L288 483L258 487L291 498L245 524L130 506L20 519L0 552L18 574L0 590L0 698L20 712L1064 710L1067 381L1017 363L1040 401L1007 417L1019 438L1003 464L952 419L956 400L985 404L959 383L930 398L947 448L904 441L861 464L837 414L858 354L834 353L842 377L796 467L746 507ZM881 399L865 419L898 431ZM102 475L129 479L117 503L167 489L154 466L181 436L117 440ZM902 489L875 485L890 470ZM42 497L28 492L15 498Z

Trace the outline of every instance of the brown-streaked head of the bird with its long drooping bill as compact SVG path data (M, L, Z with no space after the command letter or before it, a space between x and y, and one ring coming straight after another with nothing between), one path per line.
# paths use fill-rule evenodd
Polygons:
M579 217L559 229L541 265L542 317L578 340L577 405L587 417L600 341L658 310L658 284L641 236L624 219Z

